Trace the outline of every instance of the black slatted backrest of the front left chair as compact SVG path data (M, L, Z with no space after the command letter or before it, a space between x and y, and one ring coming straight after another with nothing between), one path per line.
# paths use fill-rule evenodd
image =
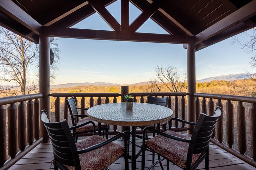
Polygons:
M62 166L63 169L66 168L63 164L81 169L79 156L74 154L77 148L67 120L64 119L60 122L51 123L46 111L42 110L41 112L41 120L44 122L50 137L56 163Z

